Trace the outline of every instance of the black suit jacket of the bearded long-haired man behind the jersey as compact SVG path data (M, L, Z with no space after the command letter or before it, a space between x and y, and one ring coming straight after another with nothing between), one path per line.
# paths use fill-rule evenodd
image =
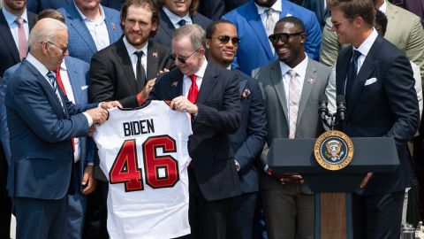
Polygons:
M170 50L161 44L148 42L147 80L154 79L163 68L174 67ZM97 52L91 59L90 100L102 102L118 100L123 107L138 107L138 89L131 59L121 37L109 47Z

